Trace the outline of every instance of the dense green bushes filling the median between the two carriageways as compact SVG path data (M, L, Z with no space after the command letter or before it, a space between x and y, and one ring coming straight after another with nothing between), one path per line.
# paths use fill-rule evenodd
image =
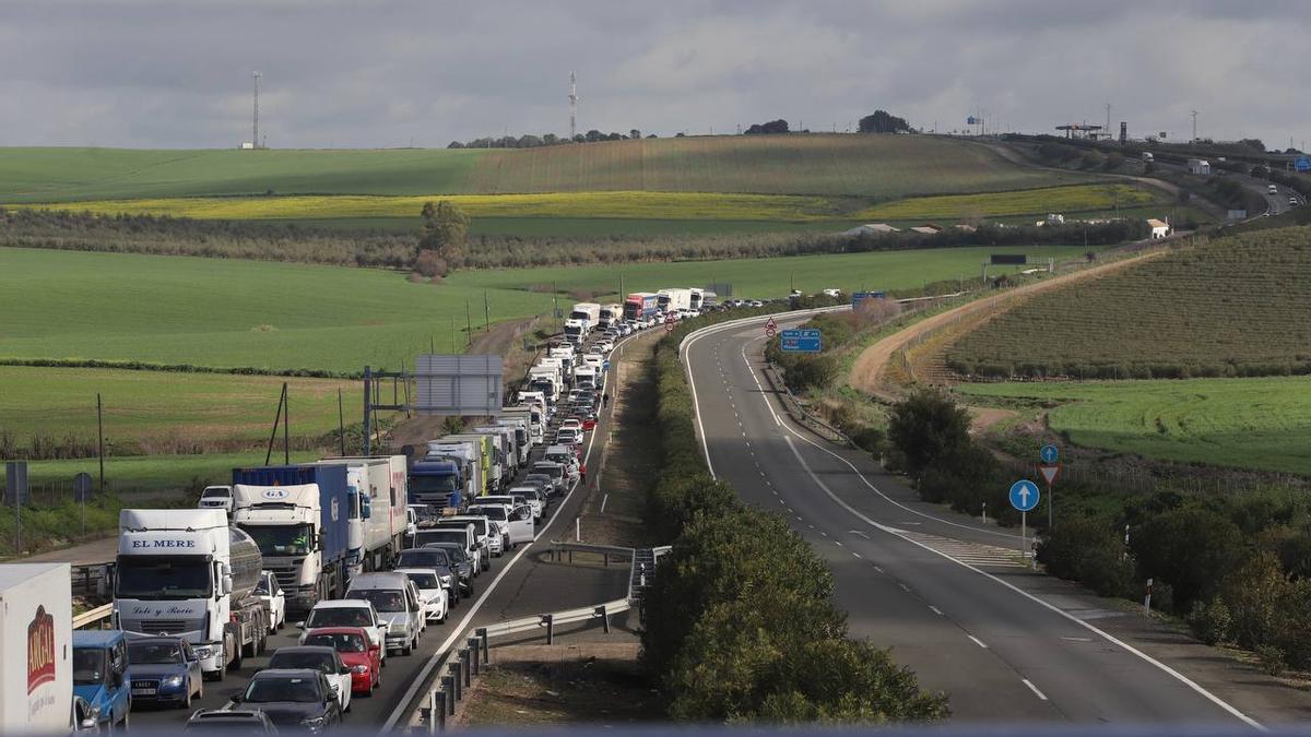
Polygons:
M670 716L775 724L944 717L945 696L923 692L886 650L847 637L827 567L787 521L746 506L707 472L678 358L688 329L679 327L656 353L663 462L648 519L674 544L642 598L642 660L670 696Z

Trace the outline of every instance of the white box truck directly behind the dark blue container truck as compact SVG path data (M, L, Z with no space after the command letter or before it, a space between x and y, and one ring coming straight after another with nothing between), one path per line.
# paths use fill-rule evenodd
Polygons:
M357 492L350 509L351 574L385 569L401 552L405 534L405 456L341 456L317 463L345 466L346 481Z

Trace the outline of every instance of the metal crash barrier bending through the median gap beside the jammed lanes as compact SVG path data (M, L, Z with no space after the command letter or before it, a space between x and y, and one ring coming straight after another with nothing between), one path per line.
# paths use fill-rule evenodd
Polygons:
M561 555L590 553L608 557L624 556L632 561L628 580L628 597L593 606L583 606L549 614L536 614L509 622L498 622L479 627L464 647L452 649L438 661L434 673L438 678L427 694L427 703L421 708L420 717L427 725L429 733L446 729L447 719L455 716L455 707L464 700L465 691L473 687L473 677L492 662L492 639L541 632L548 645L556 640L556 627L565 624L590 623L600 620L604 632L610 633L610 618L637 607L641 593L656 573L659 556L670 551L670 546L657 548L624 548L617 546L591 546L586 543L552 542L552 560ZM640 611L640 610L638 610Z

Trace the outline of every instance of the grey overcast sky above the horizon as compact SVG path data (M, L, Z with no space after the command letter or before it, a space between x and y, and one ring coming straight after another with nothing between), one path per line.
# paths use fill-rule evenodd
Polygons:
M1311 138L1311 3L0 0L0 146L446 146L578 127L1129 122ZM3 160L0 160L3 165Z

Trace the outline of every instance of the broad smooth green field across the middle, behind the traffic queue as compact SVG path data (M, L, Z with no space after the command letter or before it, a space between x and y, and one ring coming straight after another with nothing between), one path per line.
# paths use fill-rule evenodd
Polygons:
M1007 249L1065 257L1080 248ZM547 315L551 285L614 292L729 282L739 296L918 289L970 278L990 249L953 248L788 258L460 271L440 285L402 274L173 256L0 249L0 358L96 358L216 367L361 371L399 367L430 341L463 346L468 306L482 323ZM94 389L90 389L94 392Z

